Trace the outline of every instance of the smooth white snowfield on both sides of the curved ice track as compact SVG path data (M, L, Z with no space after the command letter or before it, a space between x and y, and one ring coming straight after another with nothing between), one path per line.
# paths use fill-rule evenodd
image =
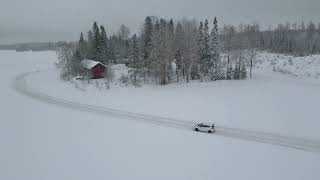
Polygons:
M315 57L306 68L313 74ZM54 52L0 51L0 179L320 178L316 152L77 111L13 88L18 75L40 70L26 77L28 86L72 102L320 139L313 75L293 78L262 62L247 81L79 90L59 80L55 61Z

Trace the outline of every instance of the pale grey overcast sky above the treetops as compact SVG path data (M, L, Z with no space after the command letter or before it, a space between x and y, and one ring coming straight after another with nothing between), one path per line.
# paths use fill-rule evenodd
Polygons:
M93 21L135 32L145 16L212 19L220 25L320 22L320 0L0 0L0 44L75 40Z

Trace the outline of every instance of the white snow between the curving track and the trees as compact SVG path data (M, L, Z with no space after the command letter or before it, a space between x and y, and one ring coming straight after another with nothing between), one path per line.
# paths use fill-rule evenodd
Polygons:
M95 80L89 85L86 81L66 83L59 79L58 71L52 69L31 74L27 83L54 97L84 104L290 136L320 137L317 118L320 80L302 80L273 72L271 62L276 56L281 57L278 64L287 61L285 56L258 54L256 66L259 68L253 70L252 79L245 81L196 81L142 88L113 86L106 90L105 80ZM316 67L320 71L320 56L311 58L314 58L314 68L307 68L306 72L316 74ZM295 63L304 65L303 61L311 58ZM287 67L289 65L283 69ZM116 79L126 74L121 65L114 69Z

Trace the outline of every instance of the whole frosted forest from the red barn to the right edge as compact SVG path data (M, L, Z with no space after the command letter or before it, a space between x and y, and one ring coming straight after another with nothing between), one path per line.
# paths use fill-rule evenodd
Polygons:
M108 36L104 26L94 22L86 37L66 43L59 51L61 77L70 79L80 73L83 59L110 65L125 63L134 84L165 85L190 80L246 79L258 50L296 56L320 52L320 24L279 24L260 30L258 24L218 27L218 21L174 21L146 17L141 32L130 35L121 25ZM222 56L224 54L224 56Z

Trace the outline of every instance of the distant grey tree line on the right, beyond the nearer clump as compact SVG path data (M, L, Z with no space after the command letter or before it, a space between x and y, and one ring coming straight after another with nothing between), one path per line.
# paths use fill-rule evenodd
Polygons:
M307 56L320 53L320 23L285 23L261 30L259 24L226 25L221 29L225 50L259 49L274 53Z

